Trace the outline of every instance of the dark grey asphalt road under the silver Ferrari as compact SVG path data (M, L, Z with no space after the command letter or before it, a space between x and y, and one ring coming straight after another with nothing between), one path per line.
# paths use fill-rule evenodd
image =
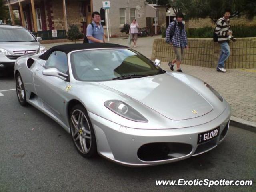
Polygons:
M32 106L18 103L11 77L0 78L0 192L256 191L256 133L230 126L214 150L145 168L80 156L68 134ZM4 91L2 90L9 90ZM250 187L156 186L156 180L254 180Z

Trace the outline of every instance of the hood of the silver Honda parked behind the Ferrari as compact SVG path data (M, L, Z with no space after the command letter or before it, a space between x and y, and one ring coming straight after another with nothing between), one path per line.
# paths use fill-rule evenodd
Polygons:
M18 46L17 46L18 44ZM6 49L9 52L13 51L32 51L38 50L40 43L38 42L0 42L0 48Z

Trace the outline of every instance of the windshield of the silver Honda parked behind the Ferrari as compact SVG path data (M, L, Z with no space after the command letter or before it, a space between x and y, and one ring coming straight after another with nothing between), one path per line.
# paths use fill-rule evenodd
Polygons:
M33 42L36 39L23 28L0 28L0 42Z

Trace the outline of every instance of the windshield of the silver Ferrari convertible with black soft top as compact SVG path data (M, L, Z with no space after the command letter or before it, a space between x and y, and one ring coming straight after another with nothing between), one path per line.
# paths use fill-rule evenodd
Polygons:
M165 73L142 54L130 49L84 50L71 54L74 78L108 81Z

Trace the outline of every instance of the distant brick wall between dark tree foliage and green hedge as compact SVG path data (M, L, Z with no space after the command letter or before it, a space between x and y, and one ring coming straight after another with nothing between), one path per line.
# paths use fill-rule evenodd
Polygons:
M252 21L249 21L245 18L245 16L241 16L240 18L230 18L230 24L232 25L246 25L246 26L255 26L256 25L256 17L253 18ZM215 23L212 22L211 19L198 19L198 20L188 20L189 28L200 28L200 27L214 27Z

